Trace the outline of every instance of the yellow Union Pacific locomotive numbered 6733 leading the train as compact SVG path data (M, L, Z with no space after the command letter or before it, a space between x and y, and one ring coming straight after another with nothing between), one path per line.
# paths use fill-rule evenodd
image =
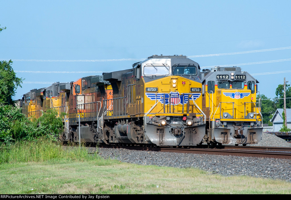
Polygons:
M113 98L103 100L107 144L196 146L205 135L198 63L186 56L150 56L110 72ZM111 108L111 112L109 112Z

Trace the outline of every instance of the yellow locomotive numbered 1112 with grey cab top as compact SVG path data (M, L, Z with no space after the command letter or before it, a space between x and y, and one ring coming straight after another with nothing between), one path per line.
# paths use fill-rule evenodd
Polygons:
M258 81L239 67L203 70L205 141L212 144L255 144L262 137L262 114L256 103Z

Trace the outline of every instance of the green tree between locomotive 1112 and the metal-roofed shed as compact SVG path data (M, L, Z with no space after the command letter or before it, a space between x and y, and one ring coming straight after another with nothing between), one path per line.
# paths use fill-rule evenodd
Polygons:
M259 101L259 98L262 98L261 113L263 116L263 124L269 124L269 126L272 126L273 124L270 122L270 119L273 117L272 114L274 114L277 109L275 102L263 94L260 95L260 97L257 96L257 102Z

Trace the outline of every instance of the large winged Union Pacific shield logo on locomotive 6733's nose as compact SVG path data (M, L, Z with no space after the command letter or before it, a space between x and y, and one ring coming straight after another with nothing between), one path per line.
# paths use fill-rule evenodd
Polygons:
M189 94L180 94L179 92L170 92L169 94L163 94L163 93L152 93L152 92L146 92L145 95L150 99L150 100L157 100L160 101L162 104L165 105L169 104L170 101L170 94L171 94L171 105L183 105L183 100L184 104L188 103L189 100ZM190 100L195 101L200 97L201 93L193 93L191 94Z

